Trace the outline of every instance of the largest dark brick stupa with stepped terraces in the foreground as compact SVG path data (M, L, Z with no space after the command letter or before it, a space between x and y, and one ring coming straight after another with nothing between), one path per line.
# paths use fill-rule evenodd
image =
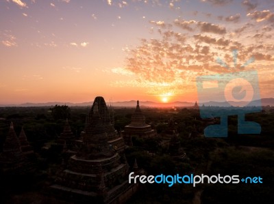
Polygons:
M81 203L124 203L137 186L128 182L127 163L108 143L105 123L95 101L83 134L82 147L71 156L67 168L51 189L64 198Z

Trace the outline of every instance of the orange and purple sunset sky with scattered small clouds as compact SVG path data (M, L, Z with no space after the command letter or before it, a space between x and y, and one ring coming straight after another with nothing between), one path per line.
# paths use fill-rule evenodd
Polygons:
M273 98L273 34L273 0L1 0L0 104L193 102L197 76L238 70Z

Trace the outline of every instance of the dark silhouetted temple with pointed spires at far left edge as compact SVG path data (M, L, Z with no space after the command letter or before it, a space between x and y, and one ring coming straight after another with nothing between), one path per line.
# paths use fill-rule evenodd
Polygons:
M26 152L30 148L26 137L22 139L23 136L22 133L21 141L23 147L27 147L27 149L24 148L24 152ZM34 166L27 160L21 149L21 141L16 136L13 123L11 122L8 136L3 143L3 152L0 154L0 173L4 175L25 175L34 171Z

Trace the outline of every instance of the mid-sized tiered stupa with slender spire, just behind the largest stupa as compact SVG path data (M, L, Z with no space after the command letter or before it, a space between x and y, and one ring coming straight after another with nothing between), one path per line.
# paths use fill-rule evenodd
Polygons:
M152 130L151 126L145 123L145 115L140 110L139 101L137 101L136 110L132 115L132 121L128 126L125 126L125 130L122 131L125 143L132 145L132 136L139 137L153 137L156 136L155 130Z

